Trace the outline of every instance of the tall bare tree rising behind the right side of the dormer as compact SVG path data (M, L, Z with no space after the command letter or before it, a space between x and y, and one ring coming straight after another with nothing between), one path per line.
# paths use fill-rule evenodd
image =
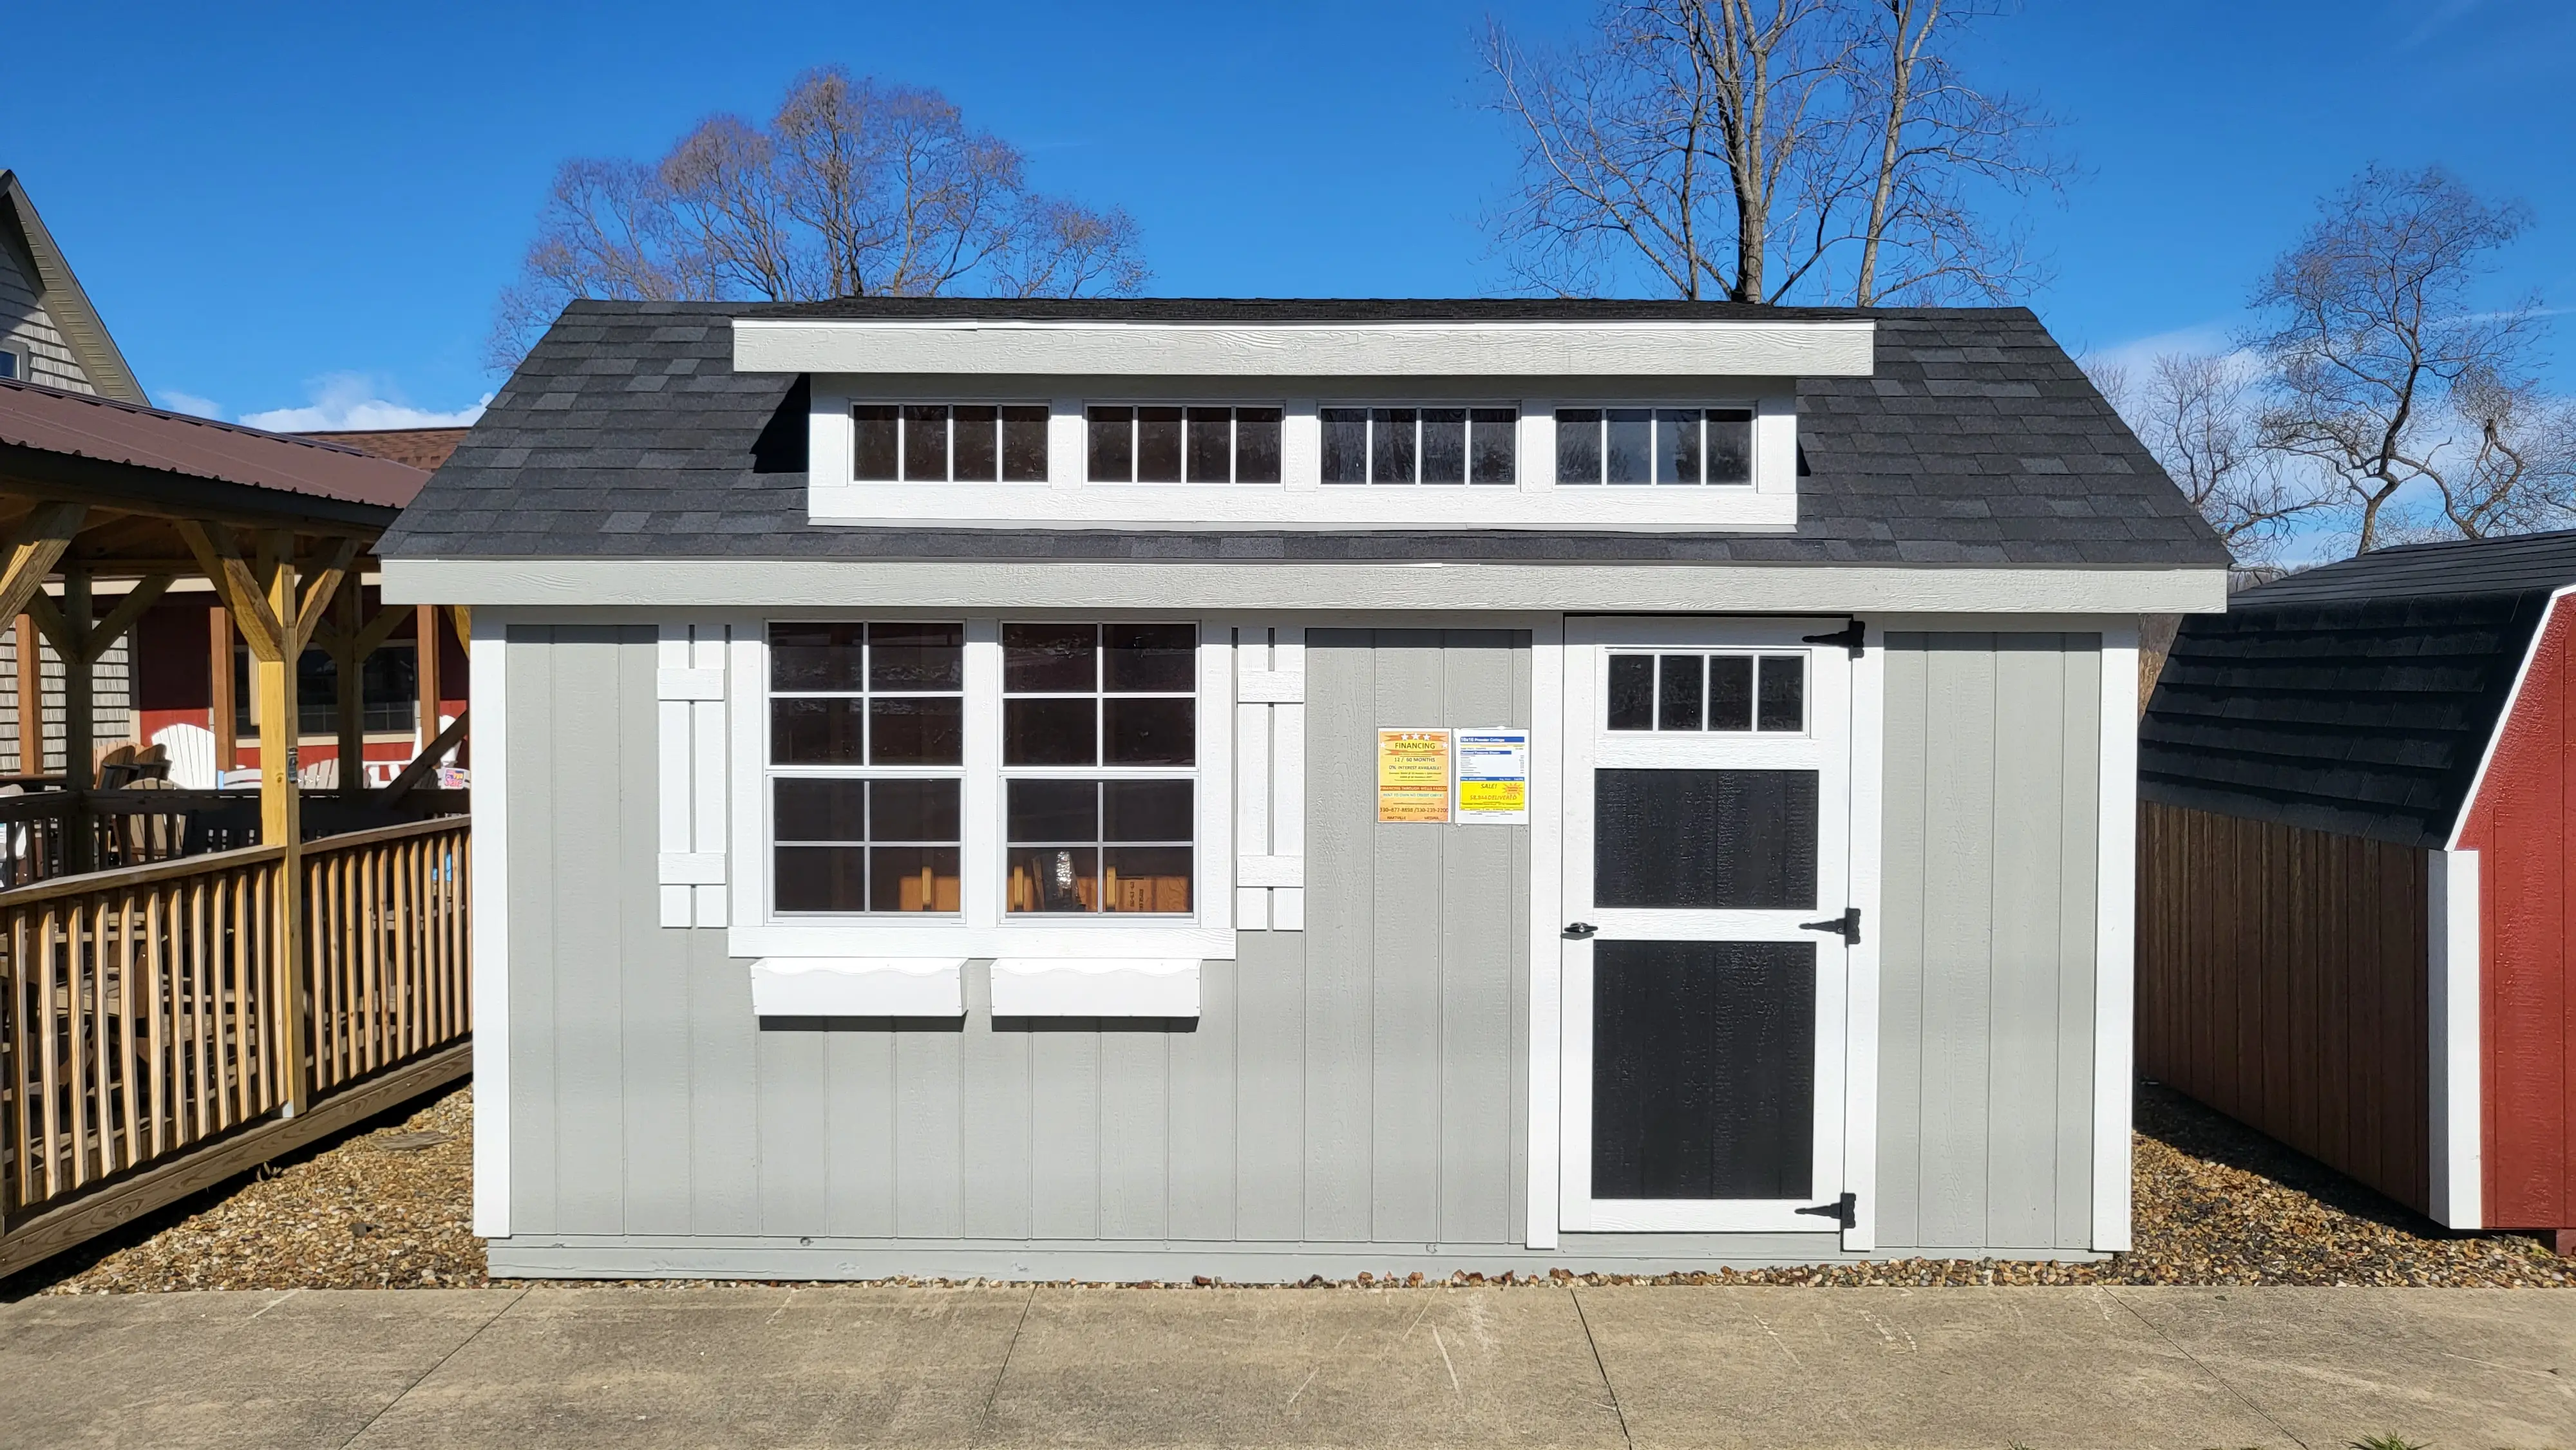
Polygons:
M1577 46L1489 26L1520 180L1489 216L1525 283L1602 291L2004 296L2032 281L1978 183L2053 183L2045 118L1971 90L1945 46L1976 0L1610 0Z

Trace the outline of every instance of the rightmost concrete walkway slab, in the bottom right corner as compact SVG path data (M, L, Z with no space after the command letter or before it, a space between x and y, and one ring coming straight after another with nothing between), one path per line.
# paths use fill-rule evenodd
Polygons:
M2308 1445L2576 1445L2576 1293L2115 1288ZM2282 1437L2287 1437L2282 1435Z

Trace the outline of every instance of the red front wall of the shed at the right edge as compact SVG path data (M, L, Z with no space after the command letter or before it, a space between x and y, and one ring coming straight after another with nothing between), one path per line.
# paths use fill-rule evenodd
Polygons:
M2576 1229L2576 600L2540 628L2522 693L2470 804L2478 852L2486 1223Z

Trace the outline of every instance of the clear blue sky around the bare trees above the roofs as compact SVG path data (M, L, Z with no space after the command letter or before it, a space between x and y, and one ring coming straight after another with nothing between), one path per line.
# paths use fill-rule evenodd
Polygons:
M392 8L386 8L392 10ZM1504 286L1486 15L1589 3L44 5L10 15L15 167L157 399L281 428L469 410L554 165L659 155L842 62L945 90L1036 180L1136 214L1170 296ZM33 62L33 57L44 57ZM2576 304L2576 5L2032 0L1968 67L2066 118L2032 296L2076 350L2210 343L2321 191L2447 162L2537 224L2496 296ZM2561 348L2558 379L2576 379ZM412 412L402 412L412 410Z

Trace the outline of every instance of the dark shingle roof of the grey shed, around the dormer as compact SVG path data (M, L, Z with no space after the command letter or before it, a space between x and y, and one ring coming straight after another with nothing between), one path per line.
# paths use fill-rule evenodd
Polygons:
M1878 368L1798 389L1798 531L1321 533L806 523L793 384L732 368L734 317L1870 317ZM773 433L778 440L781 433ZM786 458L793 453L793 458ZM1546 559L2226 564L2218 538L2027 309L1605 301L577 301L379 546L392 559Z

